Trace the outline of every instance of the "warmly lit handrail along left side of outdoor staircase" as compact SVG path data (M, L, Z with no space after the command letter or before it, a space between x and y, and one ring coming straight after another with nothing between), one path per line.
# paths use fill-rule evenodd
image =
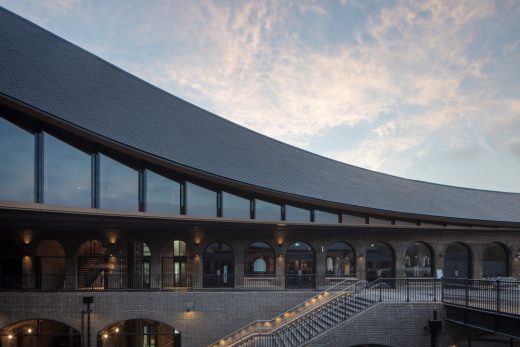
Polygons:
M270 320L256 320L256 321L253 321L252 323L246 325L246 326L243 326L242 328L240 329L237 329L235 331L233 331L232 333L226 335L225 337L223 338L220 338L218 339L217 341L213 342L210 344L210 346L234 346L236 345L237 343L243 341L245 338L247 338L248 336L250 335L254 335L255 332L257 332L258 330L261 330L262 326L267 326L268 328L271 328L272 329L275 329L275 328L278 328L282 325L285 325L285 324L288 324L289 322L291 321L294 321L296 318L300 317L301 315L313 310L314 308L320 306L321 304L323 304L324 302L329 302L331 299L343 294L344 292L346 292L348 289L354 287L356 285L358 285L359 283L366 283L366 281L356 281L354 284L351 284L349 286L347 286L346 288L343 288L341 290L339 290L335 295L330 295L330 292L333 292L335 291L335 289L339 288L340 286L342 285L345 285L346 283L349 283L349 282L352 282L352 278L346 278L344 279L343 281L341 282L338 282L332 286L330 286L329 288L321 291L320 293L314 295L312 298L310 299L307 299L305 300L304 302L288 309L287 311L283 312L282 314L270 319ZM323 298L325 298L326 300L324 301ZM314 305L312 305L312 304ZM297 314L295 314L294 311L297 311L299 309L303 309L302 311L300 312L297 312ZM287 318L291 317L290 320L288 320ZM284 319L285 318L285 319ZM273 326L274 324L276 323L280 323L276 326ZM259 328L260 327L260 328ZM244 334L245 333L245 334ZM237 341L231 341L230 344L222 344L222 341L226 341L227 339L230 339L234 336L237 336L237 335L240 335L239 336L239 339Z

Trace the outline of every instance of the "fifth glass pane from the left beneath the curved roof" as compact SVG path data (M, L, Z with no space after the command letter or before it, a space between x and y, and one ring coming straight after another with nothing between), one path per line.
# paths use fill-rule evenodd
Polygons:
M198 217L216 217L217 193L186 182L186 214Z

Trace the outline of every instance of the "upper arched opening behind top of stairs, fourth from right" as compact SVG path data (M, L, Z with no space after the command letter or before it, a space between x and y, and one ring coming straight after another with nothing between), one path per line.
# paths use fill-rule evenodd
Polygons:
M395 277L395 255L390 245L385 242L370 244L366 256L367 281L393 277Z

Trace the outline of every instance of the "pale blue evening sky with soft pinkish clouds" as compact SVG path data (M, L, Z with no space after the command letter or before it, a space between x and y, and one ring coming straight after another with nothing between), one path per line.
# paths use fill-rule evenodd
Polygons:
M518 0L0 5L280 141L401 177L520 192Z

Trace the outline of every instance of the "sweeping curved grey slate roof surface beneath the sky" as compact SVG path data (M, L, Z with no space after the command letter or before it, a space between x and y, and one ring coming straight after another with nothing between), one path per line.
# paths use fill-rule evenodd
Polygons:
M520 222L520 194L347 165L191 105L0 7L0 93L171 162L242 183L379 210Z

